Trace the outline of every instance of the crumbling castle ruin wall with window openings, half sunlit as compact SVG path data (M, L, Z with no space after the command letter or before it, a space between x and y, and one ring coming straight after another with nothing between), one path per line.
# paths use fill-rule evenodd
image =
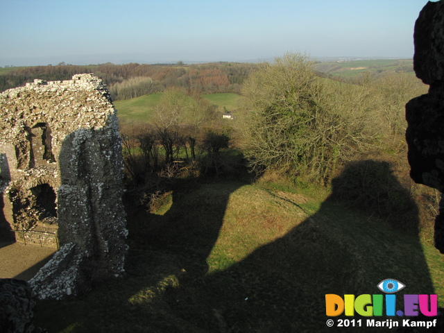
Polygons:
M127 250L119 123L92 74L0 94L0 234L60 246L29 282L39 298L123 275Z

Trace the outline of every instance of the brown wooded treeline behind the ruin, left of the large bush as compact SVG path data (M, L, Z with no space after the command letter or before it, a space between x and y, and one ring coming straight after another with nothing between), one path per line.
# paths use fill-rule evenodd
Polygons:
M110 89L114 100L132 99L163 92L167 87L184 87L200 93L239 93L241 84L257 65L214 62L203 65L126 65L37 66L19 68L0 75L0 91L24 85L35 78L69 80L74 74L93 73Z

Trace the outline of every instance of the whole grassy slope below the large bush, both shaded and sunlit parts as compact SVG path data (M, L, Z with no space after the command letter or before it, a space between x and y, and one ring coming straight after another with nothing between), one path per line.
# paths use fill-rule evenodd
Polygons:
M171 196L162 215L130 215L124 280L38 302L37 324L49 332L332 332L325 293L381 293L375 286L386 278L407 285L397 295L435 291L444 305L436 249L325 196L242 182L191 183Z

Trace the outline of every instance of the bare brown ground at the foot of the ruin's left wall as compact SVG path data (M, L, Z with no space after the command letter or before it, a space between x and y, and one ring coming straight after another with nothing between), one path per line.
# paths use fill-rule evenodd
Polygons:
M56 248L0 243L0 278L30 280L51 259Z

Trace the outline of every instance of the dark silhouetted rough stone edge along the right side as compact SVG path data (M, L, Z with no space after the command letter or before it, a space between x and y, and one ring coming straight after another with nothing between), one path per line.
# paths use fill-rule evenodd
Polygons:
M444 191L444 1L429 2L415 24L416 76L430 85L428 94L406 105L411 178ZM444 201L435 220L435 246L444 253Z

